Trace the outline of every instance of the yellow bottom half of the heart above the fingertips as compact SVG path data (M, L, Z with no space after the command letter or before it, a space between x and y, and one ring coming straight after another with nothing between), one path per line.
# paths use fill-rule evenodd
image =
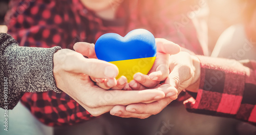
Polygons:
M117 79L121 76L125 76L127 81L130 82L133 80L133 75L137 72L142 74L147 74L150 72L156 57L147 57L139 59L128 59L128 60L119 60L111 61L110 63L115 64L118 67L119 74L116 77Z

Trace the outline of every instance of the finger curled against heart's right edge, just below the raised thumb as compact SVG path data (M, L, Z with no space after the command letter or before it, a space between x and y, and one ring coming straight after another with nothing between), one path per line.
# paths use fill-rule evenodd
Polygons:
M152 72L155 71L155 72ZM163 81L169 75L169 55L157 53L155 63L150 71L149 78L154 81Z

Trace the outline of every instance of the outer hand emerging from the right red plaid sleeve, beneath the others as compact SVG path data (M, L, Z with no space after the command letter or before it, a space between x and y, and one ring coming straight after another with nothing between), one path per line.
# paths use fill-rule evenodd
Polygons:
M185 88L188 91L197 92L200 81L200 61L196 56L189 55L186 52L169 56L169 71L170 74L164 85L173 88L173 92L174 88L177 94ZM117 105L111 109L110 113L124 118L135 117L144 119L160 113L160 111L175 100L176 97L172 96L147 104Z

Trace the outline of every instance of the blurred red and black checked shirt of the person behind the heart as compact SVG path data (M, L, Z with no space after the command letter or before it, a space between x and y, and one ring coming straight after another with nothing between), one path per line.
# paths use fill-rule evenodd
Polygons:
M184 3L187 6L182 6ZM103 20L78 0L11 1L6 16L8 33L20 46L73 49L78 41L95 43L99 36L144 28L155 37L180 44L196 54L203 54L191 20L183 17L198 1L136 1L113 3L119 6L115 20ZM182 27L177 27L177 23ZM53 91L26 93L21 99L38 118L50 126L72 125L93 118L88 111L65 93Z

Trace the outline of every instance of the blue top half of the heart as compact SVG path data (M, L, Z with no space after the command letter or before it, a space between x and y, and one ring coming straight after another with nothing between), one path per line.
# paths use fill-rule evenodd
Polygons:
M154 35L144 29L133 30L124 37L107 33L95 43L97 58L108 62L155 57L156 50Z

